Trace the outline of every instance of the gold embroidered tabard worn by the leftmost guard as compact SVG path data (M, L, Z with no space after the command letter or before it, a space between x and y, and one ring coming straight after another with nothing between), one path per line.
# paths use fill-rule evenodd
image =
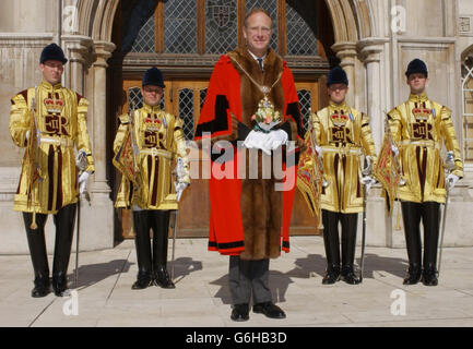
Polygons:
M61 207L76 202L79 185L74 147L86 154L85 170L94 171L87 133L88 101L60 84L52 86L46 82L15 95L10 109L10 134L20 147L26 146L33 101L38 139L36 163L42 180L34 185L34 195L29 193L28 171L26 161L23 161L13 209L33 212L35 206L37 213L56 214Z

